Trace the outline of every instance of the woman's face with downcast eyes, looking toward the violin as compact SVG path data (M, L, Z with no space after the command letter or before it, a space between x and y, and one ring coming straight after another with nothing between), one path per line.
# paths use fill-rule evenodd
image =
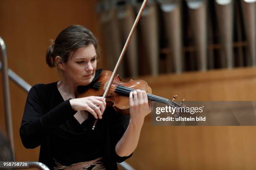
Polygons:
M97 67L97 55L94 45L80 47L71 56L65 64L64 73L69 80L74 81L77 85L88 85L95 76Z

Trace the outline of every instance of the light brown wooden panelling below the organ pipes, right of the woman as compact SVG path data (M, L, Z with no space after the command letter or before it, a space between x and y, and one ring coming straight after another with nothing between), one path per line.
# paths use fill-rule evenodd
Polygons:
M154 95L188 101L253 101L256 68L139 77ZM136 79L134 79L136 80ZM128 160L139 170L253 170L255 126L153 126L145 119Z

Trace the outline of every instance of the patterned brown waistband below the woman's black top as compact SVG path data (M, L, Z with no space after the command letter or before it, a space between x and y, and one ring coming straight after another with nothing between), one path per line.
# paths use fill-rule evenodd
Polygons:
M56 161L55 161L56 162ZM61 165L60 163L56 162L58 165L54 167L54 170L105 170L105 166L102 162L102 157L97 158L95 160L90 160L81 163L74 163L69 166Z

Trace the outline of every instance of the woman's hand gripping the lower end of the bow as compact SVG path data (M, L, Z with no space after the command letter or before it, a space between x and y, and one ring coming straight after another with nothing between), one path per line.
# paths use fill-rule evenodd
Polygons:
M86 110L96 119L102 119L103 112L106 108L106 101L103 97L89 96L69 100L73 110Z

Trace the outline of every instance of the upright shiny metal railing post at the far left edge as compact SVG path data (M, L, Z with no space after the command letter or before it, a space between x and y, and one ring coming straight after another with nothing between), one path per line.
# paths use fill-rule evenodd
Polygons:
M9 79L8 79L8 62L7 62L7 53L6 53L6 46L5 42L0 37L0 46L1 46L1 57L3 62L3 71L2 71L2 78L3 78L3 94L4 94L4 110L5 110L5 120L6 120L6 130L7 130L7 138L10 146L13 150L13 158L15 159L14 154L14 142L13 142L13 122L12 122L12 115L11 115L11 107L10 107L10 89L9 89Z

